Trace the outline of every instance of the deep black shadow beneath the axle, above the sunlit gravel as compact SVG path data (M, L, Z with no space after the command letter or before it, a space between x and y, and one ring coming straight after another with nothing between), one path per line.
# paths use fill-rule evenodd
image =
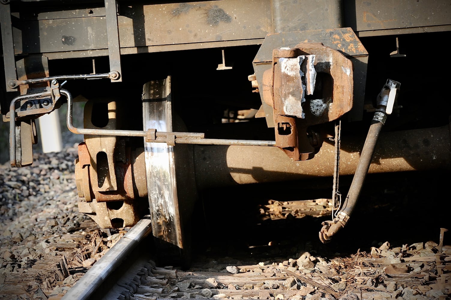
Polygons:
M351 180L352 176L340 179L343 198ZM319 241L318 231L330 214L262 220L259 208L268 200L330 198L331 179L303 182L304 188L294 182L207 190L193 218L193 253L251 259L254 254L295 256L307 250L331 258L359 249L369 252L386 241L393 247L438 243L440 228L451 229L447 185L446 178L433 172L368 175L348 225L326 245ZM450 241L445 234L444 245Z

